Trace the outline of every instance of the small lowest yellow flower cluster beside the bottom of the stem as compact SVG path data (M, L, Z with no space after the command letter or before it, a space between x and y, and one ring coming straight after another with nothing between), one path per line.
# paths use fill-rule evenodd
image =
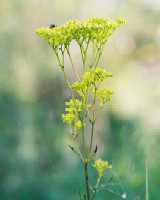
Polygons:
M103 161L101 159L96 160L95 163L92 165L94 168L96 168L97 172L98 172L98 176L102 177L103 176L103 172L108 169L108 168L112 168L112 165L108 164L108 161Z

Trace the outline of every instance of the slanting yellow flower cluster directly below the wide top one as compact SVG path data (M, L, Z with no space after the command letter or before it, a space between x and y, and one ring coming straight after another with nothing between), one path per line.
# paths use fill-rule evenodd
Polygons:
M105 70L100 68L90 69L82 76L82 81L76 81L72 85L72 88L78 92L80 96L83 96L89 88L94 92L95 88L98 88L100 83L108 77L112 77L112 74Z

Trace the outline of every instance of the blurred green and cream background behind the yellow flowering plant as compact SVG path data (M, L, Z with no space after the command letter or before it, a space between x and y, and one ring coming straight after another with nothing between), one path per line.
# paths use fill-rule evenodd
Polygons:
M160 1L5 0L0 5L0 199L77 200L83 168L68 148L61 114L67 88L52 49L34 29L89 16L124 17L99 65L115 91L96 127L97 158L113 164L115 194L97 200L160 199ZM73 60L81 67L79 49ZM66 60L66 69L71 67ZM72 76L70 76L72 79ZM95 183L96 171L90 169Z

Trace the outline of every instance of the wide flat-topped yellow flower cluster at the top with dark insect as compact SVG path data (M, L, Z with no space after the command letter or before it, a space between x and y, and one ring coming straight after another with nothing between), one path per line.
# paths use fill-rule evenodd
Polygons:
M105 44L113 31L124 24L123 18L116 20L106 18L88 18L83 21L69 20L61 27L41 27L35 33L49 43L54 49L59 45L68 47L72 40L76 40L79 45L88 39L97 45Z

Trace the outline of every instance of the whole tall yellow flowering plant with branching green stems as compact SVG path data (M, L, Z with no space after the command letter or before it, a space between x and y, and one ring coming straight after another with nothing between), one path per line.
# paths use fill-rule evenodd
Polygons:
M50 27L41 27L35 30L35 33L52 47L70 91L71 99L66 102L62 120L68 125L73 140L80 143L78 139L81 139L82 150L69 145L71 150L80 157L84 165L85 191L84 194L80 195L81 200L95 198L103 172L108 168L112 168L112 165L108 164L107 161L95 161L92 166L98 172L98 179L95 187L91 186L88 177L88 165L93 161L98 148L97 145L93 148L96 120L104 104L110 101L114 94L111 88L100 87L102 82L112 77L112 74L97 66L109 37L124 23L123 18L112 20L95 17L82 21L69 20L60 27L52 24ZM83 62L82 75L78 74L70 53L70 45L73 40L77 42L80 48ZM88 49L91 45L93 50L92 58L88 64ZM66 53L69 56L73 73L77 78L77 81L73 84L70 84L66 75ZM98 104L98 109L96 109L96 104ZM88 123L91 124L90 133L86 131ZM89 143L87 143L86 137L90 137Z

